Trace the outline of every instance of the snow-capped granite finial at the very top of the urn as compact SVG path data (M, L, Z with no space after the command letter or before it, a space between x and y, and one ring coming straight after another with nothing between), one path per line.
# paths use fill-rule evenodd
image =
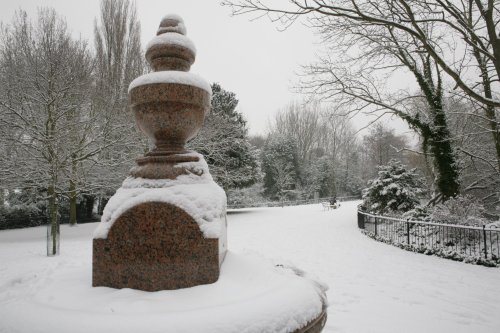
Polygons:
M156 35L146 46L146 59L151 67L155 71L189 71L196 48L186 37L183 19L175 14L164 16Z

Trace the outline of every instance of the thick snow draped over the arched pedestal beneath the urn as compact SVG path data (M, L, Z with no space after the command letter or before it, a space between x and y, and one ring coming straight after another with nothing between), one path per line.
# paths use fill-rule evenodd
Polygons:
M202 155L190 152L198 162L179 163L193 173L176 179L128 177L108 201L94 239L107 239L114 223L128 210L145 203L165 203L184 210L198 224L204 238L218 240L219 264L227 251L226 193L208 171ZM200 176L198 176L198 174Z

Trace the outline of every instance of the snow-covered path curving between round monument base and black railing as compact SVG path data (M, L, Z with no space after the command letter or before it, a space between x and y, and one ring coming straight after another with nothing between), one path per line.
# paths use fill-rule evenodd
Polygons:
M425 256L373 241L357 203L229 215L229 248L292 263L330 290L324 332L500 332L500 269Z

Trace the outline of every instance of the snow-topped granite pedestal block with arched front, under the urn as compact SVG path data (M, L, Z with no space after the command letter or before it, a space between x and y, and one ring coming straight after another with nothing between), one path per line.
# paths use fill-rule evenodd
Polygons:
M94 232L92 285L144 291L217 281L227 250L226 194L189 152L175 179L129 177ZM180 158L176 156L176 158Z

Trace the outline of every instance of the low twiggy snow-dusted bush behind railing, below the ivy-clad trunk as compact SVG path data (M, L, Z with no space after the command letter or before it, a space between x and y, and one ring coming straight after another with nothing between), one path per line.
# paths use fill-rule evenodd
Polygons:
M434 206L431 219L436 223L482 226L489 223L483 217L484 212L484 206L476 198L457 196Z

